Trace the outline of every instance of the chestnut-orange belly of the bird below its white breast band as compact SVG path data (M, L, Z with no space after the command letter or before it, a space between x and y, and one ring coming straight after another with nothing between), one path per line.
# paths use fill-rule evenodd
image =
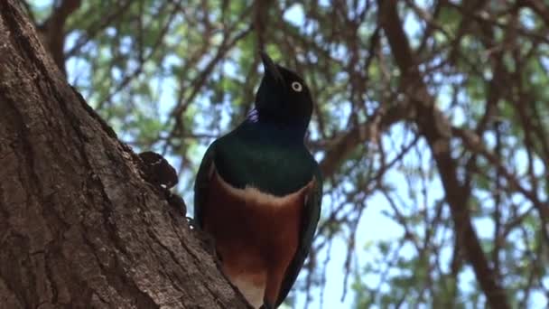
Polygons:
M283 197L237 189L212 167L203 229L215 239L223 271L256 308L275 304L299 245L303 205L312 183Z

